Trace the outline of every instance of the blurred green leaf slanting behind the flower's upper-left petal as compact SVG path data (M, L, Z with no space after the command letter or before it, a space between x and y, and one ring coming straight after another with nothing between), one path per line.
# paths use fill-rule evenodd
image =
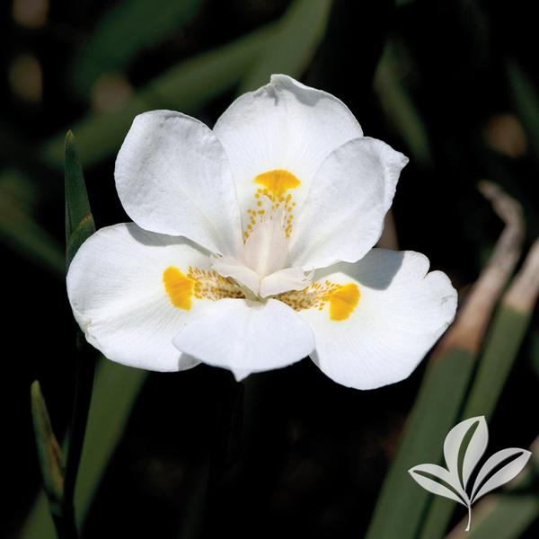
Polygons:
M193 57L172 67L137 92L118 111L93 115L73 128L84 165L116 154L137 114L152 109L181 110L192 114L212 99L232 90L245 71L266 49L274 24L242 36L222 47ZM64 134L53 137L40 148L40 156L53 167L64 164Z

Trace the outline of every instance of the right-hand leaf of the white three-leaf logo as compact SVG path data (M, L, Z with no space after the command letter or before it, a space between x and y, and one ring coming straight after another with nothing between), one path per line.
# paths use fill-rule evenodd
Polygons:
M511 481L514 477L521 472L526 466L531 453L526 449L519 449L518 447L509 447L508 449L502 449L498 453L490 456L482 469L477 475L472 490L472 503L476 499L481 498L490 490L497 489L504 483ZM510 459L510 462L500 468L497 472L494 472L499 464ZM494 472L494 473L493 473ZM490 478L485 482L484 480Z

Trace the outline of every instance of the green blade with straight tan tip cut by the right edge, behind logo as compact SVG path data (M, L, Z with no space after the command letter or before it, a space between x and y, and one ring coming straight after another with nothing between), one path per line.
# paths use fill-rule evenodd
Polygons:
M477 375L461 419L478 415L484 415L487 420L491 417L511 367L517 359L538 292L539 241L536 241L492 319ZM454 510L455 504L450 500L434 499L420 537L443 537Z

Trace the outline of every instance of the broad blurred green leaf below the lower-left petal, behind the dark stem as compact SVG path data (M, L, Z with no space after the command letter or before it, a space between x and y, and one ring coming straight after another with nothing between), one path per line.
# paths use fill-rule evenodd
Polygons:
M102 475L128 425L147 373L102 358L93 388L84 450L75 490L79 527L84 523ZM55 539L47 499L41 494L22 529L21 539Z

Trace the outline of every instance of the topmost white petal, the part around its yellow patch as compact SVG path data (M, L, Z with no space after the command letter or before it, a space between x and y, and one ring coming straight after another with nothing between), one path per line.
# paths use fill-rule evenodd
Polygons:
M299 206L324 157L363 135L343 102L287 75L272 75L270 84L236 99L214 132L225 146L243 210L260 187L255 177L274 170L291 172L301 181L290 191Z

